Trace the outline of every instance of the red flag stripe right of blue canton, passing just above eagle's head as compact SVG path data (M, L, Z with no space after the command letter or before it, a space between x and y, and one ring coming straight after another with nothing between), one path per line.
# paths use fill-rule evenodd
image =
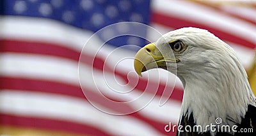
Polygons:
M214 29L214 27L205 26L205 24L198 24L196 22L193 22L191 20L185 20L185 19L179 19L174 16L170 15L164 15L163 13L158 12L152 12L152 22L155 22L157 24L161 24L164 26L172 27L174 29L179 29L181 27L199 27L202 29L207 29L211 33L214 33L214 35L218 36L220 39L237 43L239 45L244 45L245 47L249 47L251 49L255 49L256 45L253 42L250 42L248 40L244 40L243 38L240 38L239 36L227 33L225 31L221 31L220 29Z

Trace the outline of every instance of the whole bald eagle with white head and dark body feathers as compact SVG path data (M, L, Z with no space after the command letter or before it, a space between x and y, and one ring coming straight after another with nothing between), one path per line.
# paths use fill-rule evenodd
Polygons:
M177 135L256 135L256 98L246 71L214 34L195 27L164 34L134 58L138 75L152 68L174 73L184 86Z

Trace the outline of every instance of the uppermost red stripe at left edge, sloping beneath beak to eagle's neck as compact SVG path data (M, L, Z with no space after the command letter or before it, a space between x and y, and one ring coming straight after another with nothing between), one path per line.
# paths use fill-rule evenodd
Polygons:
M0 40L1 48L0 52L24 52L24 53L30 53L30 54L43 54L43 55L50 55L50 56L58 56L58 57L65 57L67 59L73 59L74 61L78 61L79 59L79 52L76 52L75 50L67 49L66 47L63 47L61 45L53 44L53 43L42 43L42 42L27 42L22 40ZM89 66L93 65L93 68L96 68L97 70L106 70L107 72L113 72L113 68L108 66L108 64L104 63L104 59L102 59L99 56L92 57L88 56L86 54L83 54L83 57L81 57L80 61L82 63L88 64ZM163 84L162 82L160 84L157 84L156 82L148 82L147 79L139 79L137 84L137 77L130 76L128 80L127 75L128 73L125 73L122 70L115 70L115 75L121 77L125 82L129 82L129 86L136 85L135 89L140 91L141 93L145 91L147 87L148 93L156 93L157 89L157 96L162 96L164 88L172 88L166 84ZM151 88L148 87L148 85L152 86ZM170 97L173 100L182 101L183 97L183 91L182 89L179 89L178 87L175 87L173 90L172 96Z

